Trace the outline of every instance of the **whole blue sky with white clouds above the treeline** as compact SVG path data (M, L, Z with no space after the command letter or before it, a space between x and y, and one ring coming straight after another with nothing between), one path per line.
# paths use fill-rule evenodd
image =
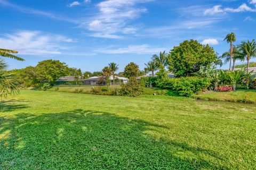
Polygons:
M255 26L256 0L0 0L0 47L26 59L6 59L10 69L46 59L83 71L110 62L118 71L129 62L143 69L153 54L191 38L221 54L228 33L237 44L256 38Z

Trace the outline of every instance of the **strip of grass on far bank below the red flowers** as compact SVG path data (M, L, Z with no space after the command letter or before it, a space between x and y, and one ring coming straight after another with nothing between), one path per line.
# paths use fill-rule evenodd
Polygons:
M211 91L194 95L194 98L202 100L256 103L256 90L237 90L235 92Z

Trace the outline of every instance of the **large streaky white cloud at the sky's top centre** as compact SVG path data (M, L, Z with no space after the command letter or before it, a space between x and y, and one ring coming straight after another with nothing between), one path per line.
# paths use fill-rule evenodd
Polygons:
M107 0L98 3L99 12L92 17L90 22L83 22L81 27L94 31L105 38L123 37L122 34L133 34L137 29L127 25L127 21L140 17L141 13L147 11L145 8L137 7L138 3L146 3L152 0Z

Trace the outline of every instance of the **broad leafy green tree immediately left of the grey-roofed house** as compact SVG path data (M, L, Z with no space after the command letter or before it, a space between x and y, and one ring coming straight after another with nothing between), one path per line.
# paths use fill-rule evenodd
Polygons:
M38 62L35 67L35 75L38 83L53 84L58 78L66 76L67 65L59 60L44 60Z

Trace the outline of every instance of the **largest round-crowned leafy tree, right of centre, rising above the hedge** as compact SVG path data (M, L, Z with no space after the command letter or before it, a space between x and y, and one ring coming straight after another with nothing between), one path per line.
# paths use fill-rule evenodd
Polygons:
M191 76L200 70L200 67L209 67L218 64L217 53L209 45L203 45L191 39L179 46L174 46L169 53L169 70L177 77Z

